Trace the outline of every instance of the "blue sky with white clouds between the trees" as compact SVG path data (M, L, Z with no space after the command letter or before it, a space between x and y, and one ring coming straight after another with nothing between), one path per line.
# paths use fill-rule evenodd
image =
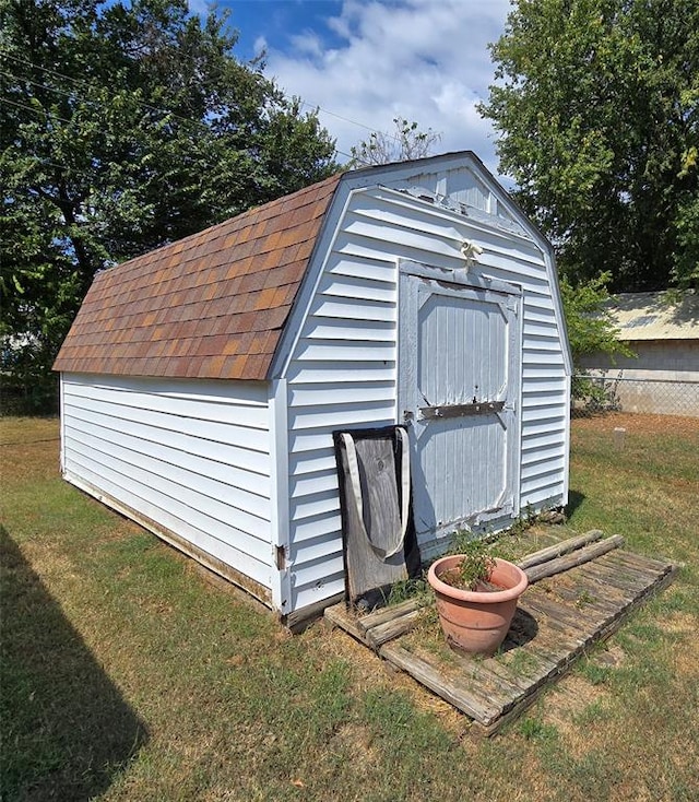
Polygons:
M472 150L495 174L495 137L476 105L488 97L487 45L509 0L218 0L239 32L240 60L266 52L264 73L319 108L339 161L402 117L441 139L434 153ZM205 0L190 0L205 11Z

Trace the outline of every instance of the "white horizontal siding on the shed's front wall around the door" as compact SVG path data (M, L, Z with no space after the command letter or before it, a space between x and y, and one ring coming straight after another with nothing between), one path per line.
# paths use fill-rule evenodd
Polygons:
M398 261L463 269L464 239L484 248L474 272L523 293L519 508L565 499L568 377L545 253L483 213L470 219L386 188L355 191L323 264L311 268L322 273L285 370L293 610L344 590L332 431L398 422Z

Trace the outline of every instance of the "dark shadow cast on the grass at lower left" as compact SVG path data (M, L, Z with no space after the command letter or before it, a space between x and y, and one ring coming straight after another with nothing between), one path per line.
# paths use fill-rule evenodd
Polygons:
M147 730L2 527L0 566L2 799L91 799Z

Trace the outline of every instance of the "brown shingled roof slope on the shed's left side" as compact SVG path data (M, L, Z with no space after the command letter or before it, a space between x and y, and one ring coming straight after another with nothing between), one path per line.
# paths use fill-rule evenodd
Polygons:
M266 378L339 180L99 273L54 369Z

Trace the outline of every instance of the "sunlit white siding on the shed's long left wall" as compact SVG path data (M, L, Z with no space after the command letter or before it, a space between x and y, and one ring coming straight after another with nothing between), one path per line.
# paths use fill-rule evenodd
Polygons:
M64 374L63 473L271 587L262 382Z

